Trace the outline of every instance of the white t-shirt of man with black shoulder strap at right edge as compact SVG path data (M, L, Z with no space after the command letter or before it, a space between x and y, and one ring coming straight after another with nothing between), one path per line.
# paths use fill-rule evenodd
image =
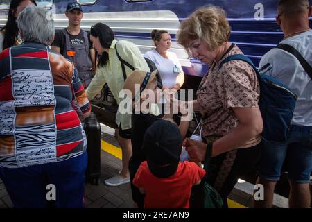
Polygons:
M312 30L288 37L281 43L293 46L312 66ZM298 96L292 124L312 126L312 80L300 62L291 53L271 49L261 58L259 67L267 63L272 65L268 74L280 80Z

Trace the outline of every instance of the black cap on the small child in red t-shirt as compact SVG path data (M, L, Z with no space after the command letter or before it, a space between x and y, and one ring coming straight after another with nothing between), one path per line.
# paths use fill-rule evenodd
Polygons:
M177 170L182 150L182 136L176 123L158 120L144 135L142 150L148 168L157 178L168 178Z

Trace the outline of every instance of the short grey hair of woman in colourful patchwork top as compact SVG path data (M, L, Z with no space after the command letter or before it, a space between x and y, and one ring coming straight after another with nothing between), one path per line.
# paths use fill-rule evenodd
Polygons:
M54 38L54 21L49 11L38 6L27 6L17 17L17 26L27 42L51 44Z

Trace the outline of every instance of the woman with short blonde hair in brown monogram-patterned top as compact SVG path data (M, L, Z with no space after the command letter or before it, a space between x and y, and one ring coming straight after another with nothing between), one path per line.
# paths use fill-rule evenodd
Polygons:
M243 54L229 42L230 31L225 11L205 6L182 22L177 40L190 56L210 67L197 100L190 102L202 114L205 143L186 139L184 145L195 162L204 161L212 149L208 182L219 191L225 207L237 179L257 164L263 126L254 69L240 60L220 66L228 56Z

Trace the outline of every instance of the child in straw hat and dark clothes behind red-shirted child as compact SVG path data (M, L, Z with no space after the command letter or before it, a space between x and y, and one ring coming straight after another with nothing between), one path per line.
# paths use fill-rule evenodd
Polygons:
M157 76L157 70L152 73L146 71L135 70L125 80L123 89L128 89L133 104L132 114L132 130L131 130L131 143L132 143L132 157L129 162L130 182L132 190L132 198L136 203L136 207L144 207L144 194L141 194L139 189L133 184L133 179L137 173L137 169L142 162L146 160L146 155L141 150L144 134L146 130L155 122L161 119L172 118L173 114L164 114L158 110L157 103L162 96L161 79ZM137 89L135 88L137 85ZM121 105L122 107L122 105ZM178 135L180 131L177 130ZM167 132L168 133L168 132ZM171 132L168 133L171 135ZM181 146L180 146L181 149ZM180 156L178 160L180 159ZM205 173L204 173L205 174Z

